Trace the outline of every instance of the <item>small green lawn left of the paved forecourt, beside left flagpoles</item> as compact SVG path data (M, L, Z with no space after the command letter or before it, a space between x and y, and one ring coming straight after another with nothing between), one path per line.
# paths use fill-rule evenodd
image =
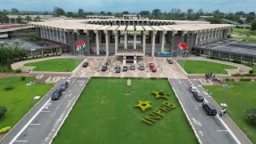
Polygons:
M51 59L42 62L26 63L25 66L36 66L33 71L71 72L74 70L75 59Z

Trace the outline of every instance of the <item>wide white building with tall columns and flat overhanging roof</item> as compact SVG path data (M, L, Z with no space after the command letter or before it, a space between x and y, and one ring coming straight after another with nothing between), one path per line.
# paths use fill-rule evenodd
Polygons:
M200 21L150 20L137 15L30 22L30 26L35 26L40 38L69 45L71 54L74 54L75 43L83 40L86 55L115 54L134 62L137 57L156 56L158 52L171 52L175 57L178 40L186 43L191 52L193 46L226 39L228 30L234 27Z

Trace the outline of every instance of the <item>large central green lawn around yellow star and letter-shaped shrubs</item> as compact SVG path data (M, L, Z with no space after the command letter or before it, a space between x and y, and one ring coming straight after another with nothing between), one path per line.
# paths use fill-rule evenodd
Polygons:
M91 78L82 95L64 122L54 144L66 143L197 143L182 107L167 80ZM134 93L126 95L129 90ZM152 90L165 90L170 94L168 102L176 104L175 110L164 118L147 126L141 120L166 100L156 100ZM152 110L141 112L134 105L138 101L150 101Z

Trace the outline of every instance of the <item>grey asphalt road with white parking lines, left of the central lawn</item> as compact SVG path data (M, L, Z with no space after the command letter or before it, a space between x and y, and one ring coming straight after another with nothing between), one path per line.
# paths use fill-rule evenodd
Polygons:
M65 80L62 79L62 81ZM51 94L58 89L60 83L58 82L54 89L46 94L43 103L34 107L36 109L34 114L26 115L24 118L26 122L21 122L14 126L14 130L7 134L1 143L50 143L88 80L89 78L70 78L70 86L63 91L59 100L51 101Z

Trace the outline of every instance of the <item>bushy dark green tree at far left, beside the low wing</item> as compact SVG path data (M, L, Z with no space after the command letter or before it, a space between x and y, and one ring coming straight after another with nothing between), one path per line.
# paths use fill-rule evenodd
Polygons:
M22 61L22 58L26 56L26 50L21 47L19 42L14 44L0 43L0 66L7 66L11 70L10 64L14 60Z

